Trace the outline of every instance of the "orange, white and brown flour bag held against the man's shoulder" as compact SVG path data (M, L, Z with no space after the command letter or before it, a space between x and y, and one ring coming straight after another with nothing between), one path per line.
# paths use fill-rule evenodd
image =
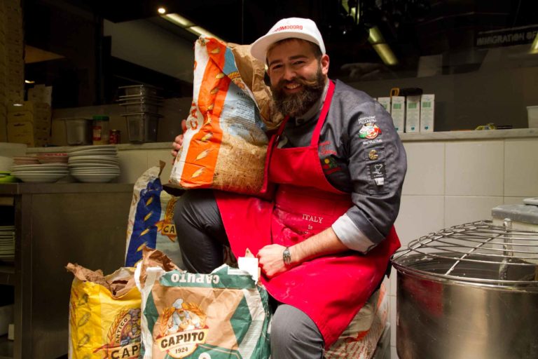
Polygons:
M263 64L246 47L200 36L193 103L170 184L258 194L268 145L265 130L281 118L263 85Z

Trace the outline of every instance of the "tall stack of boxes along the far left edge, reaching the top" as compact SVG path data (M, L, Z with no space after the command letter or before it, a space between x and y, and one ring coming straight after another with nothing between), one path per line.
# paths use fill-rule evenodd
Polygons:
M20 0L0 1L0 142L6 141L8 105L22 103L25 90L24 36Z

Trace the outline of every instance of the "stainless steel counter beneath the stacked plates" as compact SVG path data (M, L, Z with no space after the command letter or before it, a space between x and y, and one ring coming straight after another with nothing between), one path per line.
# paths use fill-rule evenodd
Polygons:
M15 262L0 264L1 290L15 292L15 341L0 359L67 353L68 262L111 273L123 265L132 184L1 184L15 217Z

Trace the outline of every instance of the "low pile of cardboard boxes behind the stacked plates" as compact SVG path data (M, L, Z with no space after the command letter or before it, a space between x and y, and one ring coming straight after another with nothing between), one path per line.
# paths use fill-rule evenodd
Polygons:
M50 137L50 105L25 101L22 106L8 107L8 142L41 147Z

